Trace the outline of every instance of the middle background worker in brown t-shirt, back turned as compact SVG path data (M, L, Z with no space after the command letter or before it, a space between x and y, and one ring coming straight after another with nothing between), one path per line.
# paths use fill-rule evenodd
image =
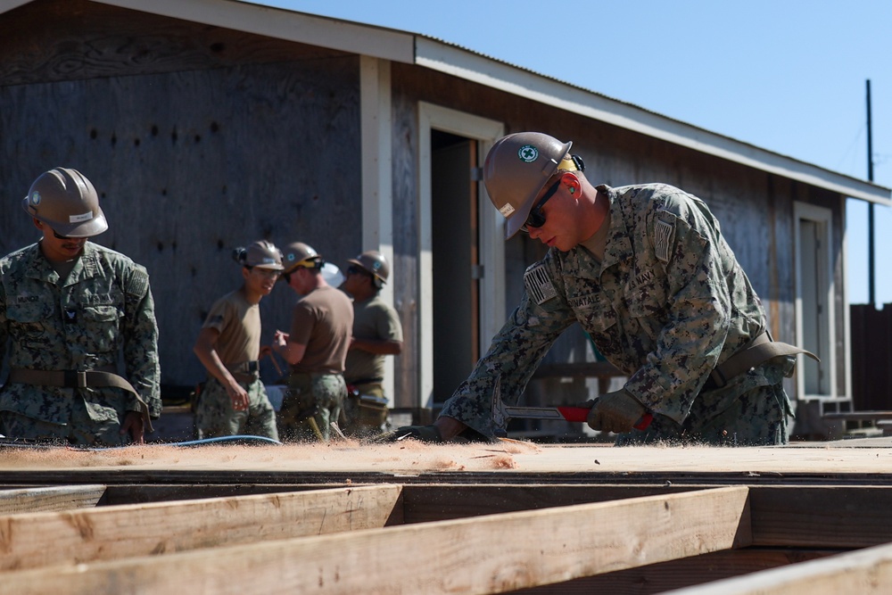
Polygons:
M277 422L280 438L321 440L347 397L344 360L350 348L353 305L342 291L326 283L325 260L307 244L285 247L282 277L301 299L294 304L291 332L276 331L273 351L291 366L288 390Z

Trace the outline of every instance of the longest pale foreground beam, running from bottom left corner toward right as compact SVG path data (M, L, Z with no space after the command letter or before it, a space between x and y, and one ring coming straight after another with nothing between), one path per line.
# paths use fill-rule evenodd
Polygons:
M747 488L0 574L21 594L66 592L491 593L751 541Z

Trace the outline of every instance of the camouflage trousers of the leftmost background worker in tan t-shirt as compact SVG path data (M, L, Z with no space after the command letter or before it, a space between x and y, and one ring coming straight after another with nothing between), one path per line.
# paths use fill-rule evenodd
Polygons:
M260 379L239 385L248 393L248 409L236 411L223 384L211 378L195 405L195 432L199 439L219 436L264 436L278 440L276 411Z

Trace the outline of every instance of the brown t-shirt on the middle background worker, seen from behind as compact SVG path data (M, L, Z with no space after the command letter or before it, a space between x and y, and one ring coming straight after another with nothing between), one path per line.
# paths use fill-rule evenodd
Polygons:
M340 289L314 289L294 304L289 341L306 345L294 372L341 374L353 327L353 304Z

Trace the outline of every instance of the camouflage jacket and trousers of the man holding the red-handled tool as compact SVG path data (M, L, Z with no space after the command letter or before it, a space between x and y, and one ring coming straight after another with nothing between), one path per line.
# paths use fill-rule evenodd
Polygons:
M786 443L790 409L780 383L795 359L769 360L703 390L713 368L766 326L706 204L663 184L598 190L611 204L603 262L577 246L551 249L527 269L523 300L441 415L492 435L495 378L515 404L558 335L579 322L628 376L625 390L655 414L647 430L619 443Z

